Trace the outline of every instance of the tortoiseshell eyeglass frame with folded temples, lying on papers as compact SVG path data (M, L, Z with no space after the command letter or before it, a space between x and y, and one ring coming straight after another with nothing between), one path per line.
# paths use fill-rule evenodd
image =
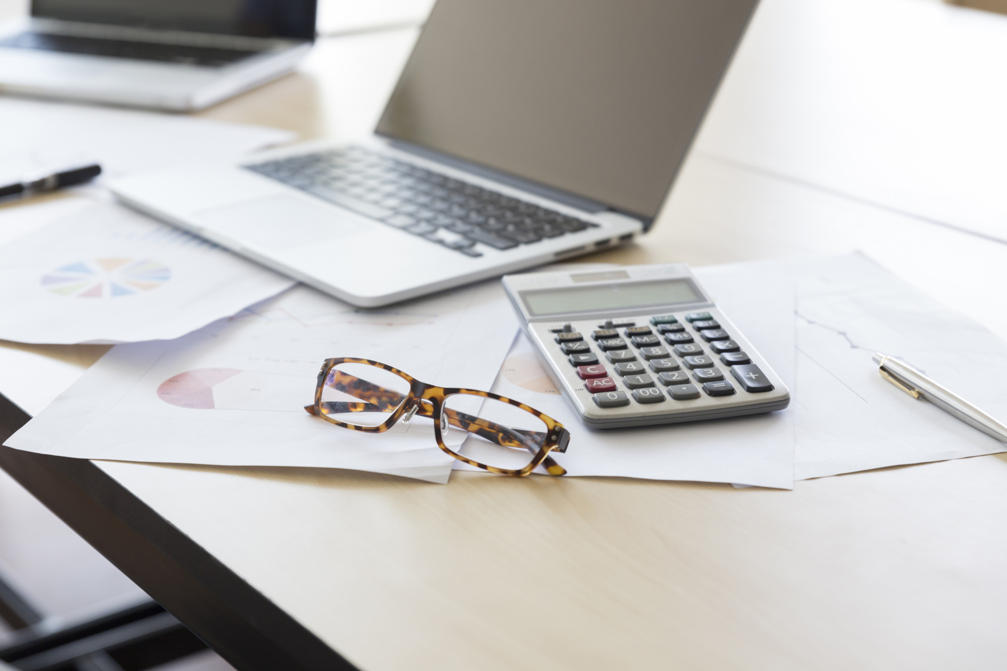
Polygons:
M407 380L409 382L409 394L406 395L405 401L403 401L403 396L395 391L385 389L374 383L370 383L366 380L359 380L358 378L353 378L352 376L343 374L341 371L340 375L344 375L346 380L350 384L354 384L353 395L359 398L363 402L361 403L345 403L345 402L331 402L322 401L321 394L325 387L325 380L328 378L329 372L339 364L367 364L370 366L376 366L378 368L385 369L395 373L399 377ZM444 439L441 436L441 413L445 412L444 409L444 399L453 394L469 394L472 396L484 396L485 398L495 399L503 403L510 403L511 405L516 405L522 410L526 410L539 419L541 419L548 431L546 432L546 437L541 445L538 446L538 451L532 456L531 462L521 469L512 468L497 468L496 466L487 465L485 463L479 463L478 461L473 461L467 456L462 456L457 452L453 451L450 447L444 444ZM396 407L396 410L392 412L388 419L378 426L361 426L359 424L347 424L346 422L340 422L337 419L333 419L328 416L325 406L337 406L340 413L350 413L350 412L364 412L372 410L387 410L391 407ZM414 410L415 408L415 410ZM312 405L304 406L304 409L317 417L321 417L327 422L331 422L336 426L341 426L343 428L348 428L353 431L365 431L368 433L381 433L387 431L395 423L402 418L407 412L411 414L408 419L412 419L413 415L419 415L421 417L430 417L434 420L434 435L437 438L437 445L443 449L445 452L450 454L456 459L464 461L470 465L476 466L478 468L483 468L490 473L496 473L501 476L527 476L532 473L536 466L542 464L546 472L551 476L565 476L566 469L563 468L559 463L556 462L549 452L565 452L567 444L570 442L570 432L567 431L562 424L553 419L548 415L544 415L535 408L529 407L524 403L519 403L510 398L499 396L498 394L493 394L490 392L478 391L475 389L463 389L463 388L445 388L445 387L435 387L433 385L427 384L425 382L420 382L416 378L403 373L402 371L392 368L388 364L382 364L377 361L371 361L370 359L353 359L350 357L341 357L337 359L326 359L322 363L321 370L318 371L318 381L315 384L315 396L314 403ZM454 426L463 428L467 431L473 432L487 440L496 442L497 444L507 447L525 447L531 451L532 447L529 445L527 440L518 441L510 437L513 434L511 429L507 427L498 426L492 422L485 420L481 417L471 417L463 416L461 413L448 409L447 421ZM475 430L472 431L472 427Z

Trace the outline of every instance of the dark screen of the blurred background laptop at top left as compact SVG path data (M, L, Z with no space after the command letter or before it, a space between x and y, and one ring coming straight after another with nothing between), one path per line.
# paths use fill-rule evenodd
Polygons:
M254 37L314 38L316 0L32 0L31 15Z

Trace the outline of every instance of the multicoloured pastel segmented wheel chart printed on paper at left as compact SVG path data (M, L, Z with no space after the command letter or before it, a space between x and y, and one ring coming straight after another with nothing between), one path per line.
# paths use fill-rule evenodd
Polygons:
M106 257L60 266L40 284L57 295L118 298L156 289L171 279L171 269L150 259Z

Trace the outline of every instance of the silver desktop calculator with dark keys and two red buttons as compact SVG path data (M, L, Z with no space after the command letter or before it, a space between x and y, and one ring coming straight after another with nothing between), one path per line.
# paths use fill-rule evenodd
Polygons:
M581 419L646 426L781 410L790 394L685 264L503 277Z

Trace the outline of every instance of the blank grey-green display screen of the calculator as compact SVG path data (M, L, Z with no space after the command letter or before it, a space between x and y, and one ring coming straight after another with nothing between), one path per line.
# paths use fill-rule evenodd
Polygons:
M594 286L523 291L521 297L532 316L566 312L622 310L634 307L695 303L703 300L685 279L653 282L617 282Z

